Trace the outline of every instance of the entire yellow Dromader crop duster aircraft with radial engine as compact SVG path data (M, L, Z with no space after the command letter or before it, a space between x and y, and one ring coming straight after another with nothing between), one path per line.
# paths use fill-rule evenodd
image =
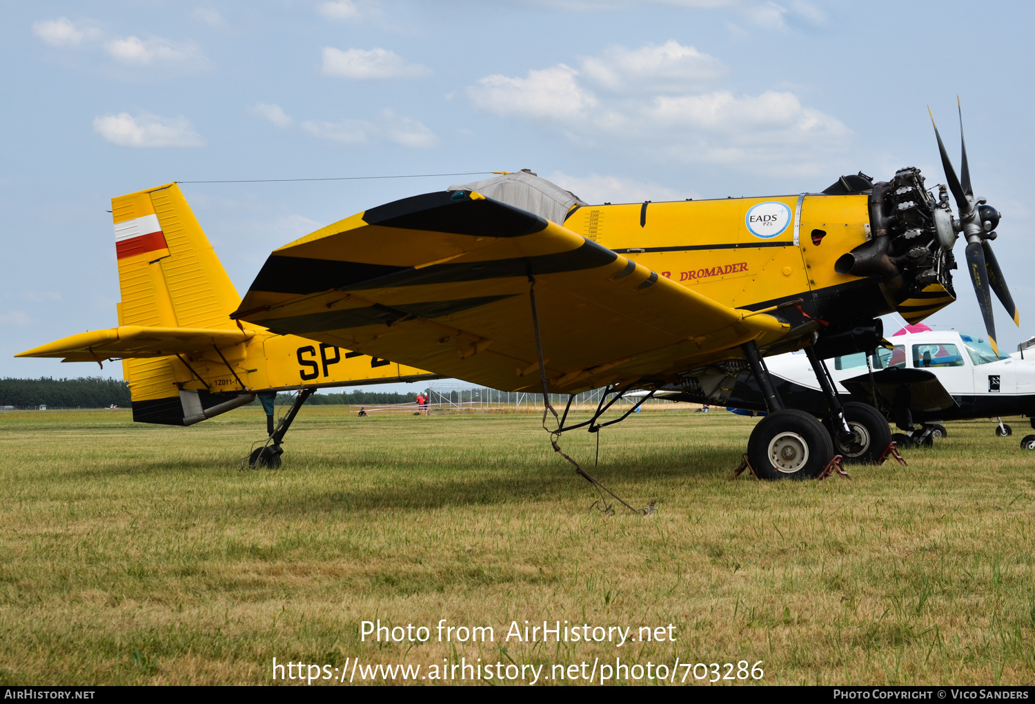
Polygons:
M752 471L818 476L835 451L874 461L890 442L876 409L840 402L822 360L881 344L879 316L915 323L952 302L957 233L993 345L992 292L1018 320L988 245L999 212L975 200L966 150L960 183L938 143L938 197L917 169L841 177L820 194L594 206L534 174L452 186L276 250L239 305L179 190L161 186L113 201L117 239L132 242L119 244L125 327L23 356L127 359L135 417L183 423L224 389L245 395L209 411L257 389L433 375L720 404L750 377L769 410L748 442ZM180 237L190 244L177 259ZM802 348L827 399L822 421L787 408L765 366ZM382 377L352 354L400 366ZM572 427L565 411L554 437L610 424L596 423L605 409ZM254 464L278 458L283 434L270 435L275 450Z

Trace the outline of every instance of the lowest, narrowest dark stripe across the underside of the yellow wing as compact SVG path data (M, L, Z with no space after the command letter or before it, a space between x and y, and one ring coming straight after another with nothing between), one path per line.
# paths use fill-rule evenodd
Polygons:
M478 296L476 298L460 298L456 300L433 300L418 303L400 303L397 305L382 305L375 303L366 307L347 309L344 311L327 311L326 313L309 313L302 316L285 318L267 318L263 326L280 334L305 334L325 330L341 330L364 325L385 325L394 323L408 316L419 318L441 318L461 311L468 311L479 305L495 303L512 294L504 296Z

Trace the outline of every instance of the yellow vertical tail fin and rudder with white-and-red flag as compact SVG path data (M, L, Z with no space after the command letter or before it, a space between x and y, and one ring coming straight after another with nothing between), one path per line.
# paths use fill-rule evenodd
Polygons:
M119 325L235 327L230 313L241 298L178 185L113 198L112 219L122 291ZM148 406L139 402L176 394L172 357L123 359L122 374L135 415Z

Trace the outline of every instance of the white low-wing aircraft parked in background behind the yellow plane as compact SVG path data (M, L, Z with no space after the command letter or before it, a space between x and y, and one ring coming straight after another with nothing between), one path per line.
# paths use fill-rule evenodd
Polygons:
M1008 357L997 355L983 338L922 324L903 328L889 342L893 349L834 357L827 368L845 401L876 406L903 431L892 436L899 446L930 445L946 435L946 420L999 418L996 435L1010 436L1002 416L1035 416L1035 349L1028 351L1035 338ZM790 408L825 403L804 353L770 357L766 364ZM752 385L748 380L731 389L728 406L759 409L753 401L761 394ZM1021 446L1035 449L1035 435Z

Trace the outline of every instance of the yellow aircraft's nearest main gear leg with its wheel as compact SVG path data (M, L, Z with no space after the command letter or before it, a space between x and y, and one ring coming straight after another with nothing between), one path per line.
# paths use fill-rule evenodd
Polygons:
M753 341L741 350L769 410L751 431L745 460L760 479L820 476L834 458L830 435L811 414L783 405Z

